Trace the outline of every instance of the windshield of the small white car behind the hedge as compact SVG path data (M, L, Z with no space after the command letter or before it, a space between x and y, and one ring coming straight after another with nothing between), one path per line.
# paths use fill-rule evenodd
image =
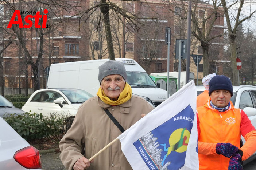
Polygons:
M93 97L92 94L80 89L60 90L69 99L71 103L83 103L88 98Z

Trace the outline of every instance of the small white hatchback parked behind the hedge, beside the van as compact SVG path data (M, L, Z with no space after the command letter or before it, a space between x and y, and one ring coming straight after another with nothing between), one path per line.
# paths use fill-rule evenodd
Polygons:
M63 114L75 116L79 106L92 95L85 90L71 88L36 90L22 107L22 110L32 113Z

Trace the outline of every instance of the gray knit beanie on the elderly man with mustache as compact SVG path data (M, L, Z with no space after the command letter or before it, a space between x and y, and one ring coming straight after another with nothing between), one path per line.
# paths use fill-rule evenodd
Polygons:
M98 76L98 80L99 80L100 84L104 77L112 75L112 74L121 75L126 82L127 75L126 75L124 63L120 62L120 61L109 60L109 61L105 62L104 64L100 65L99 66L99 76Z

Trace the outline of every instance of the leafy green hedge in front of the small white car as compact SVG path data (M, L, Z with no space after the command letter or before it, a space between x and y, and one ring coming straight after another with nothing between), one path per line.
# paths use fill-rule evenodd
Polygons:
M41 139L43 137L59 136L64 131L67 116L26 112L24 115L11 114L4 120L17 131L25 140Z

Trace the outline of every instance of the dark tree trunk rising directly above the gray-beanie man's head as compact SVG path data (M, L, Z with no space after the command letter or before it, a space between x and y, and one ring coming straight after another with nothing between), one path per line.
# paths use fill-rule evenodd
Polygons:
M109 20L109 4L106 3L106 0L101 0L101 6L100 10L103 14L104 19L104 26L105 26L105 32L106 32L106 40L108 44L108 54L110 60L116 60L115 59L115 52L113 47L113 41L112 41L112 35L111 35L111 27L110 27L110 20Z

